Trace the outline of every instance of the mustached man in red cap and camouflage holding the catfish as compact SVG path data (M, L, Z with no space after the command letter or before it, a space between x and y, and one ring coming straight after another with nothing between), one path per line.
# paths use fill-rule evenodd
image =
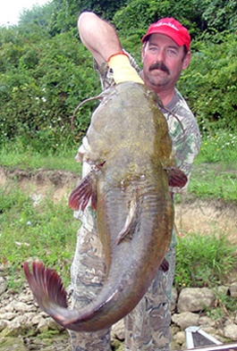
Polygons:
M191 164L199 153L199 127L185 100L175 88L182 70L190 63L188 30L174 19L166 18L152 24L142 38L142 71L139 71L132 57L123 51L114 28L96 14L81 13L79 31L81 41L94 56L102 88L130 80L142 84L145 82L148 88L157 93L165 106L161 107L161 110L165 114L169 134L173 140L177 166L189 177ZM174 113L180 122L174 118L174 114L167 111ZM80 146L80 153L83 154L86 147ZM84 163L83 176L88 171L89 165ZM171 189L172 194L178 191L180 189ZM97 297L103 285L106 266L97 237L95 214L88 207L85 213L75 213L75 216L81 220L81 227L72 263L72 308L80 308ZM166 255L169 270L157 271L157 277L148 288L145 297L124 319L125 350L169 349L169 302L174 280L175 245L173 234L171 247ZM110 330L93 333L70 331L70 335L74 351L111 350Z

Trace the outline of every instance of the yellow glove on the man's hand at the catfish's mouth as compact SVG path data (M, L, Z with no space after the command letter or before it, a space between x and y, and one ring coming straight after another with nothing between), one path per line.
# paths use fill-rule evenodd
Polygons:
M121 52L112 54L107 60L109 68L114 72L114 81L116 84L124 81L135 81L136 83L144 84L138 72L131 66L127 54Z

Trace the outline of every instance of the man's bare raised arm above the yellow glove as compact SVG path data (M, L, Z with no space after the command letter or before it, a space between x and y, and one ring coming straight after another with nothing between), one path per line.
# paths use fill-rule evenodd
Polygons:
M123 51L114 27L95 13L81 13L78 29L82 43L99 65L106 62L112 54Z

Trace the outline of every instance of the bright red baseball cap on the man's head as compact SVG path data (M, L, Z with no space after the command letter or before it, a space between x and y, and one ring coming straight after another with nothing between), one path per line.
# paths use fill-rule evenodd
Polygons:
M151 34L165 34L165 36L172 38L178 46L185 45L190 50L190 33L174 18L163 18L156 23L152 23L147 34L141 39L142 43L147 41Z

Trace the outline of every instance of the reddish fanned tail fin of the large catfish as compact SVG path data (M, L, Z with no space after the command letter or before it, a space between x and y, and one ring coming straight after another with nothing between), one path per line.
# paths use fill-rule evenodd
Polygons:
M32 272L25 262L23 270L39 307L47 313L53 305L67 308L66 291L56 272L49 270L41 262L32 263Z

